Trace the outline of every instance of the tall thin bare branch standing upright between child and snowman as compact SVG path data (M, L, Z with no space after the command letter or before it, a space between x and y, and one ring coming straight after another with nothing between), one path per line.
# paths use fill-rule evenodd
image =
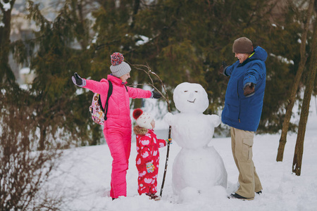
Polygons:
M172 127L171 125L172 122L171 120L173 119L173 115L170 113L170 101L168 99L168 92L166 91L166 87L165 85L163 84L163 81L161 80L161 78L159 77L159 75L157 75L155 72L152 72L151 71L151 68L149 68L149 65L133 65L137 70L142 70L144 71L148 76L149 76L149 79L151 80L151 82L148 84L150 85L151 87L153 87L156 91L159 92L159 94L161 94L161 96L163 97L163 99L166 101L166 103L168 104L168 114L167 115L170 115L170 121L168 121L168 124L170 125L170 127L168 128L168 139L170 139L170 134L171 134L171 131L172 131ZM147 68L147 70L144 70L143 68ZM162 87L166 93L166 96L164 96L161 91L159 91L159 89L156 89L156 87L154 86L154 82L153 82L153 79L151 78L151 75L155 75L161 82L162 84ZM135 84L134 84L135 85ZM136 84L136 85L144 85L144 84ZM164 120L166 120L166 116L164 117ZM161 186L161 193L160 193L160 196L162 196L162 193L163 193L163 187L164 187L164 183L165 183L165 178L166 178L166 171L167 171L167 168L168 168L168 157L169 157L169 154L170 154L170 141L168 141L168 146L167 146L167 152L166 152L166 162L165 162L165 169L164 169L164 174L163 174L163 181L162 181L162 186Z

